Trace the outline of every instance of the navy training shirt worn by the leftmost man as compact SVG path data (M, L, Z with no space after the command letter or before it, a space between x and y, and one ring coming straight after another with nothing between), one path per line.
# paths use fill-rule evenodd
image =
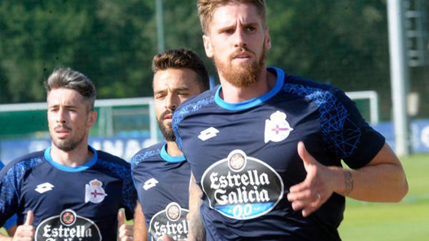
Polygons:
M78 167L60 165L50 150L20 157L0 171L0 224L34 212L35 240L116 241L117 212L132 219L137 200L130 164L103 151Z

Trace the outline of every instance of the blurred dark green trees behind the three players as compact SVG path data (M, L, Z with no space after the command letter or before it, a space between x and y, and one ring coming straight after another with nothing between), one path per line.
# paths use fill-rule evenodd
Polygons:
M164 0L166 48L204 57L195 0ZM0 103L44 101L42 82L71 67L96 84L98 98L152 94L157 53L155 0L0 1ZM386 0L267 0L273 48L268 65L344 91L375 90L390 119ZM428 11L425 11L428 12ZM428 67L410 68L420 93L418 117L429 117Z

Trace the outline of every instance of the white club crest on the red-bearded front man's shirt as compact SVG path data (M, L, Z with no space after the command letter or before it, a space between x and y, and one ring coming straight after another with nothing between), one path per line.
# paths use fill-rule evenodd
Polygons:
M283 141L292 130L293 128L286 121L286 114L275 111L271 114L270 120L265 120L265 143Z

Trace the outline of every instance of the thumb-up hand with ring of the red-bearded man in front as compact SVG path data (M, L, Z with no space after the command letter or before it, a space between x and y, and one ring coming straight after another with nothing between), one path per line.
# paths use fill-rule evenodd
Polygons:
M302 183L291 186L288 200L293 210L302 210L302 216L307 217L331 197L335 175L333 169L323 166L312 157L303 142L298 143L298 155L304 163L307 176Z

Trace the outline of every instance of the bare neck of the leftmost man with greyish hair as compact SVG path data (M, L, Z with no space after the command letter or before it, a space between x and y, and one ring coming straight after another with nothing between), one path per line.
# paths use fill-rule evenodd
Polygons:
M57 148L54 144L51 145L51 158L55 162L68 166L78 167L89 162L94 153L88 149L88 142L82 142L81 145L70 151L63 151Z

